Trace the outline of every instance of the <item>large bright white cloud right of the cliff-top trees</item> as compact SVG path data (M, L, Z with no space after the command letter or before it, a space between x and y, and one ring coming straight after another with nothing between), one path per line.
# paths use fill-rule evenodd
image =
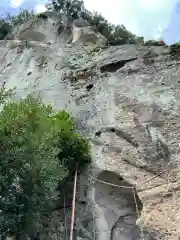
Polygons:
M167 27L177 0L84 0L89 10L96 10L114 24L126 28L145 39L160 38Z

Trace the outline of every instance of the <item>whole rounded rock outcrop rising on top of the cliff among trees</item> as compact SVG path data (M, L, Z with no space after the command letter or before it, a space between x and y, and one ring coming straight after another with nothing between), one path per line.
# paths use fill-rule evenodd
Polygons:
M82 19L70 20L55 12L45 12L29 19L23 25L17 26L7 36L8 40L18 39L39 41L45 43L79 42L106 45L106 38L95 33Z

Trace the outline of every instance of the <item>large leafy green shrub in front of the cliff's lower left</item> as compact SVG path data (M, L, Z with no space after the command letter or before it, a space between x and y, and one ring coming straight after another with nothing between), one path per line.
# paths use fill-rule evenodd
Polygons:
M36 232L58 183L90 162L89 144L65 111L29 95L0 113L0 234Z

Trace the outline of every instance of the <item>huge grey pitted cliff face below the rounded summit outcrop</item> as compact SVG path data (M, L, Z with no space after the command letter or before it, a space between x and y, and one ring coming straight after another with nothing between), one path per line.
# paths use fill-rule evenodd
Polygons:
M67 44L69 33L48 35L53 21L41 21L32 31L46 40L0 41L0 82L67 109L91 138L80 195L94 227L79 239L178 239L180 61L163 46Z

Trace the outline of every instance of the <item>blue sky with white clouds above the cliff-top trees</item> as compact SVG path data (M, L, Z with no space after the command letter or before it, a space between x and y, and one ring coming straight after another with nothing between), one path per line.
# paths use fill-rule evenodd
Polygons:
M17 13L20 8L43 12L46 3L46 0L0 0L0 12ZM174 31L176 22L180 22L180 17L178 21L175 17L177 0L84 0L84 3L87 9L101 12L110 22L123 24L129 31L144 36L145 40L159 40L164 36L168 42L175 38L180 40L180 33L178 36Z

